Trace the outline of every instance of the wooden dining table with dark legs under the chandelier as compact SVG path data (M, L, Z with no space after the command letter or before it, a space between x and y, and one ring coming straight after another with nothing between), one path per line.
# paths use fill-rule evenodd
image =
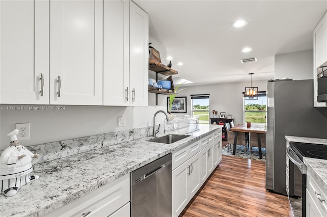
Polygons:
M263 124L251 124L250 127L247 127L246 124L238 124L232 128L230 131L235 132L234 137L234 146L233 146L233 154L235 155L236 152L236 142L237 142L237 134L238 132L244 133L258 133L258 146L259 146L259 158L262 159L262 151L261 151L261 140L260 140L260 133L266 133L266 127Z

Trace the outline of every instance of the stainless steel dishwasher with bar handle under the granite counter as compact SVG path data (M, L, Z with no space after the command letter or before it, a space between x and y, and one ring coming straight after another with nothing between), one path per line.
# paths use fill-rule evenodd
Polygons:
M172 154L131 172L131 216L172 216Z

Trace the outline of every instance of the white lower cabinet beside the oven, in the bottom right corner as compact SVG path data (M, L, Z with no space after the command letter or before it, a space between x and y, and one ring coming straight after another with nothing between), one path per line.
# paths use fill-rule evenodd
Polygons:
M322 191L322 184L316 180L314 174L307 172L307 201L306 216L327 216L327 193Z

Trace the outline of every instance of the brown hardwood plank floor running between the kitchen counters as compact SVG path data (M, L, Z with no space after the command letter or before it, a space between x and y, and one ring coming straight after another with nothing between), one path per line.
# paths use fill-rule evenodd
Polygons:
M287 196L265 188L265 162L223 155L180 217L293 216Z

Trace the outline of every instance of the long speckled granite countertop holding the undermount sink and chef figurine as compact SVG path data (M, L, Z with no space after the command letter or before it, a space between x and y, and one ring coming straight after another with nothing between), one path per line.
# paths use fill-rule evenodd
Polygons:
M191 135L173 144L145 137L36 164L31 175L40 178L22 186L14 197L1 195L0 214L42 216L221 127L200 124L195 132L188 127L169 131L166 134Z

